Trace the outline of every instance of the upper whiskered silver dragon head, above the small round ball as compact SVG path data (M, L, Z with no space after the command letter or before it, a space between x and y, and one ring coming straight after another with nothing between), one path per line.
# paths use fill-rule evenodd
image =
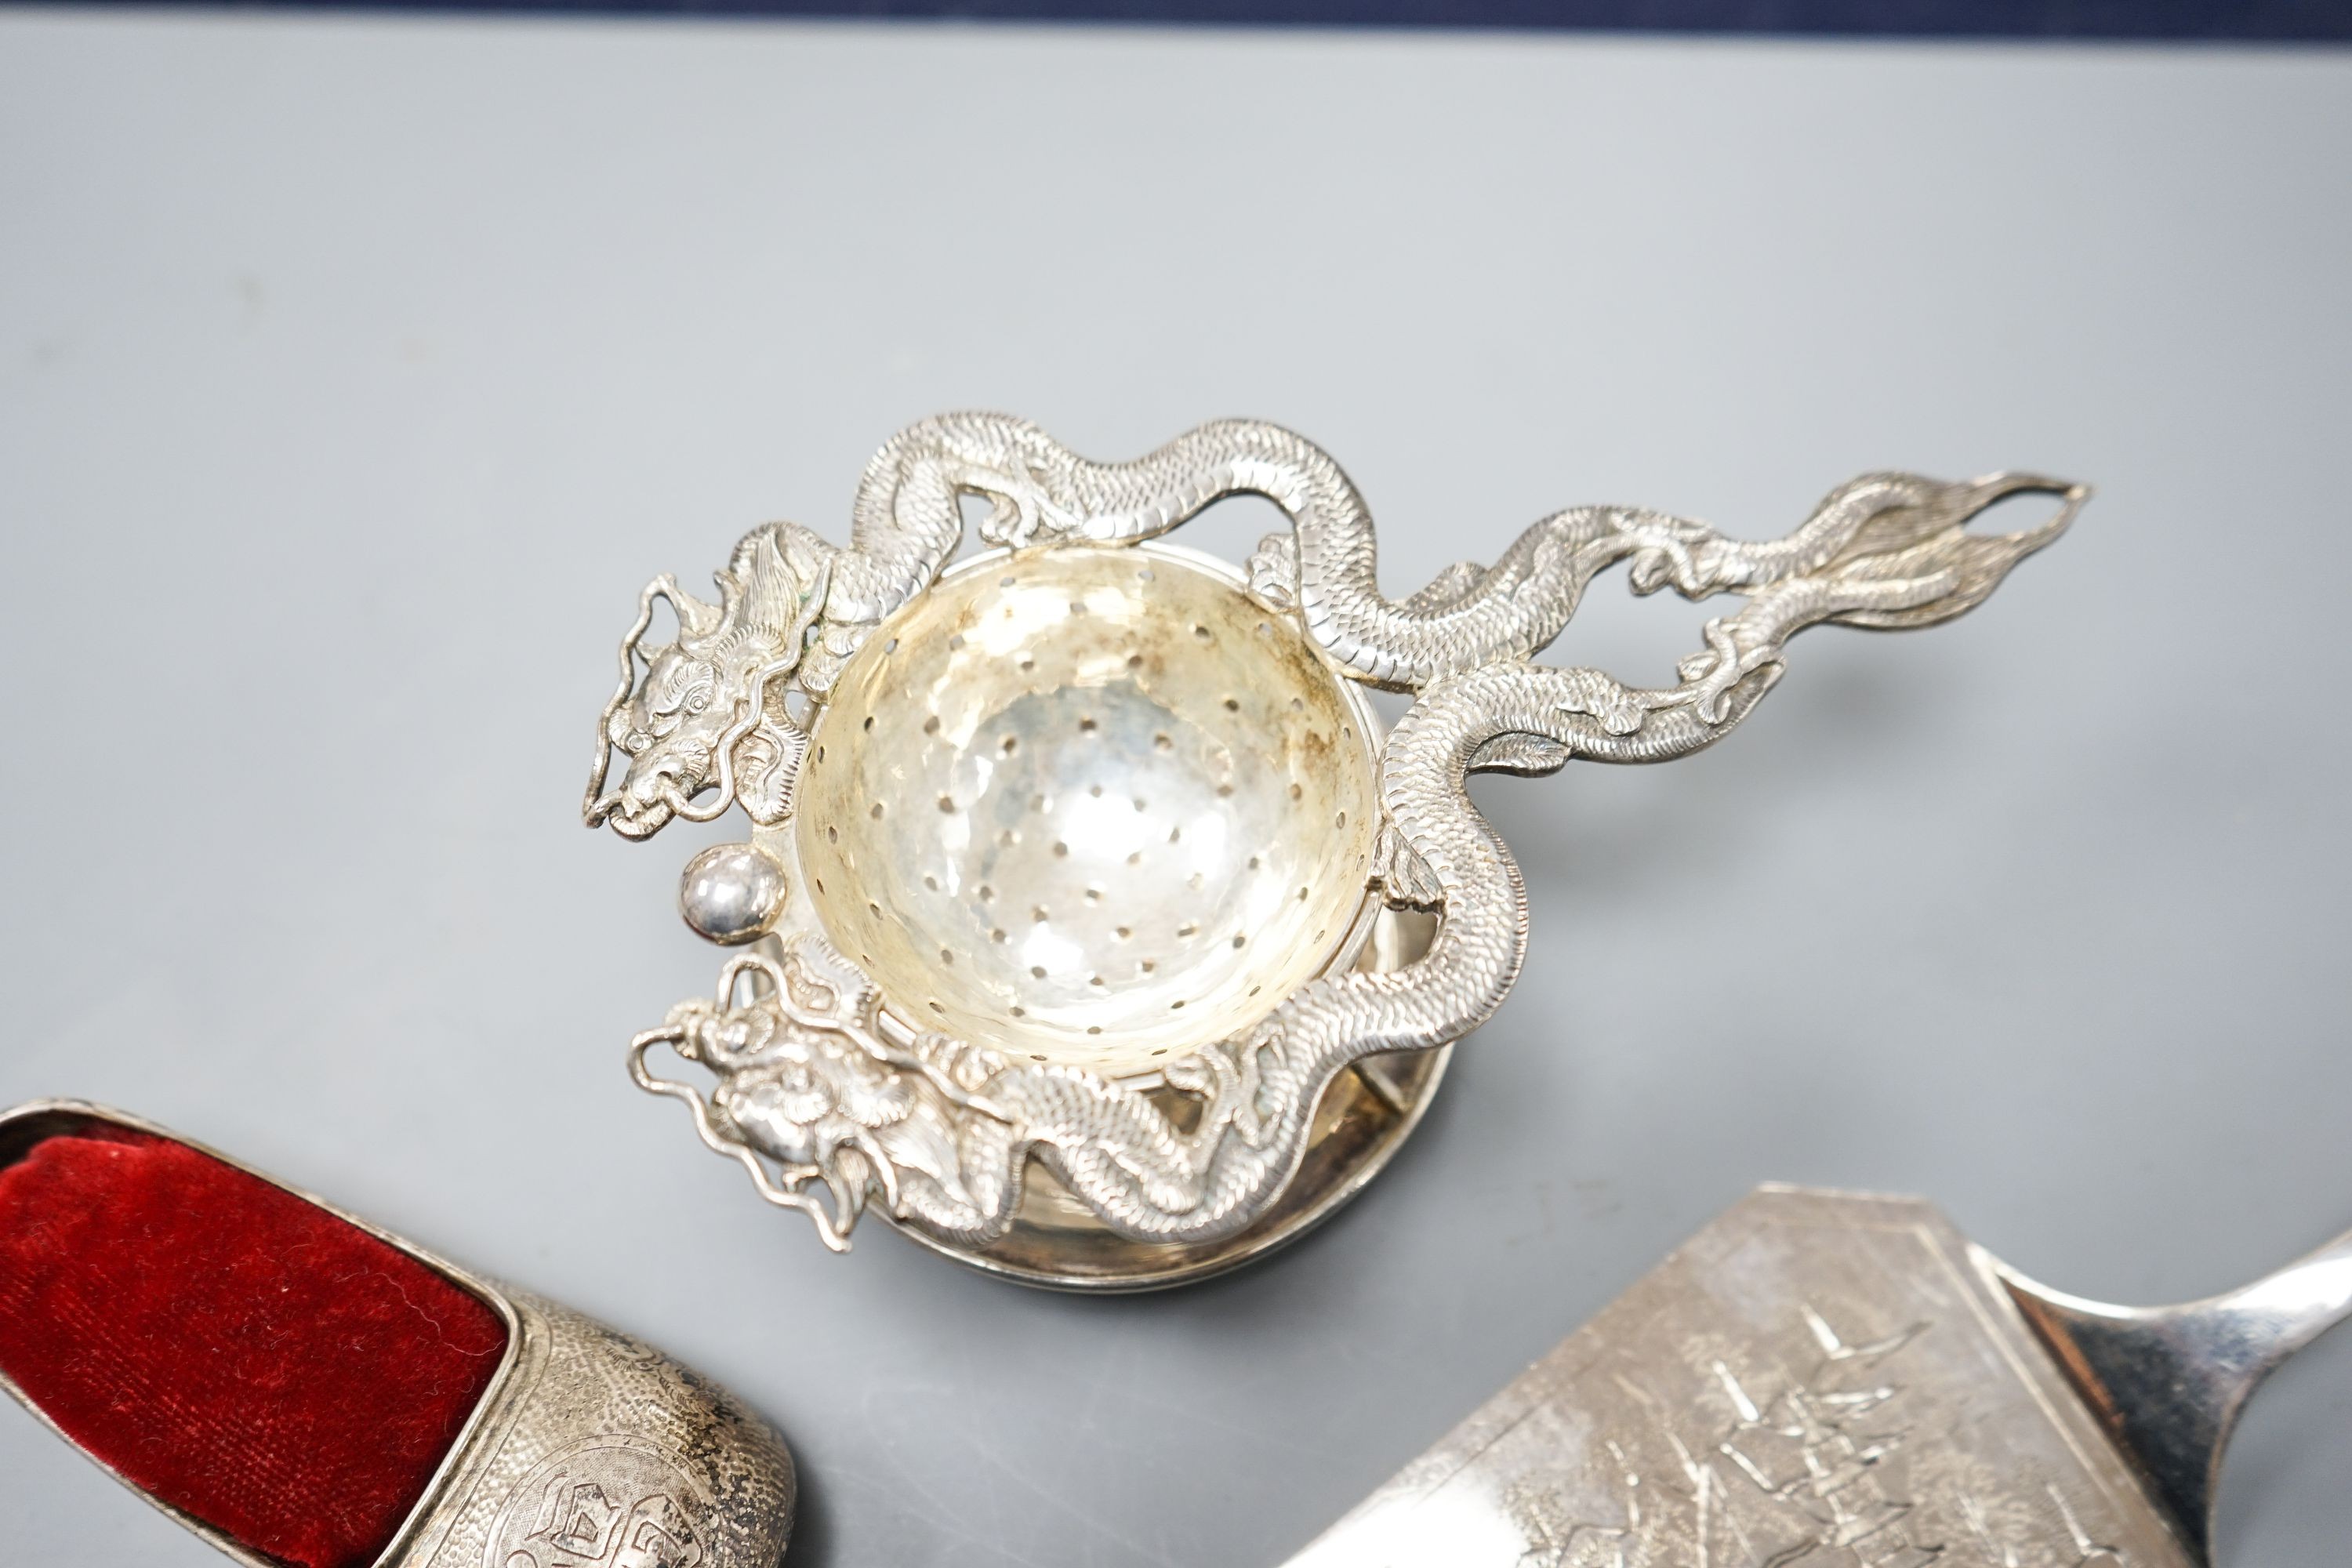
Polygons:
M771 701L769 684L800 665L830 562L833 548L816 534L771 522L746 534L715 574L717 604L670 576L647 583L637 623L621 642L621 686L597 719L581 809L590 827L612 823L642 839L677 816L708 823L739 799L755 820L783 818L807 736ZM673 642L644 642L654 599L677 611ZM619 783L616 757L626 759ZM710 799L696 802L703 795Z

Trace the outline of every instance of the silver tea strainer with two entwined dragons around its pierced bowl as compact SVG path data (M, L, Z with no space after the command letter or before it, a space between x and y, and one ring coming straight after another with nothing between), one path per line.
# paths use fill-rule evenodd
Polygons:
M1235 494L1291 520L1247 588L1141 543ZM1966 531L2020 494L2060 505ZM1004 552L941 578L964 498ZM1355 487L1277 425L1089 463L1016 418L922 421L868 465L847 550L767 524L717 604L668 576L640 597L588 825L649 837L741 804L793 886L776 940L640 1034L633 1070L828 1246L870 1197L990 1246L1030 1157L1120 1237L1228 1241L1279 1201L1334 1079L1461 1039L1517 978L1526 898L1470 773L1696 752L1773 686L1795 632L1947 621L2084 498L1865 475L1771 543L1571 508L1494 567L1388 599ZM1745 597L1675 686L1531 663L1621 562L1635 592ZM668 642L649 642L656 602ZM1343 679L1414 693L1385 743L1348 722ZM1437 912L1428 950L1352 964L1376 907ZM715 1088L656 1077L659 1044Z

